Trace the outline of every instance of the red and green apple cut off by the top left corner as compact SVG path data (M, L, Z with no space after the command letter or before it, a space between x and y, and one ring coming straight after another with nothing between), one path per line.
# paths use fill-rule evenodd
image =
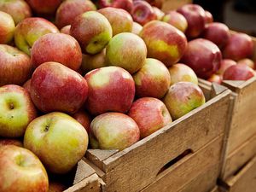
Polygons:
M32 16L31 9L24 0L0 1L0 11L11 15L15 20L15 25L21 20Z

